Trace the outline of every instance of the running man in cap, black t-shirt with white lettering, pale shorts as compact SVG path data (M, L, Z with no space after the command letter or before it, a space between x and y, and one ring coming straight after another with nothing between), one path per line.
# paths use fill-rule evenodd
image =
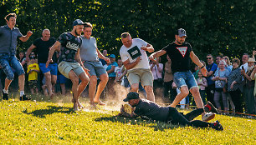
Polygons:
M81 92L84 91L84 88L89 82L89 73L88 69L84 67L83 62L79 56L80 47L82 44L82 39L79 37L83 31L84 23L76 19L73 23L73 30L71 32L62 33L54 45L50 48L48 61L45 64L45 67L49 66L49 62L53 62L52 57L54 52L60 47L59 54L59 72L62 73L65 77L71 80L72 92L74 102L74 111L78 111L79 108L83 106L79 102L78 98ZM81 82L79 83L79 79Z

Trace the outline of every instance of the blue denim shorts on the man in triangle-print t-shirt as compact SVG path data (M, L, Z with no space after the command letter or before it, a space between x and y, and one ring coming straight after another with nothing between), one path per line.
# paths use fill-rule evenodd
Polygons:
M192 87L198 87L196 79L191 71L174 72L173 81L176 83L178 88L181 88L183 86L187 86L188 89L191 89Z

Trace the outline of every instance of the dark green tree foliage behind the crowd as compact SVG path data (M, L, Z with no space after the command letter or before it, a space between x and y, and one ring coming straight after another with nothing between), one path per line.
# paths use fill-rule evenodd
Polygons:
M223 53L229 57L241 57L252 53L255 47L255 1L149 1L149 0L4 0L0 5L0 23L4 16L17 13L17 26L25 34L33 31L28 42L19 42L27 49L33 40L49 28L53 37L70 31L72 22L80 18L93 23L93 35L100 50L119 54L120 34L131 32L141 37L156 50L174 41L177 28L187 30L187 42L194 52L205 59L207 53Z

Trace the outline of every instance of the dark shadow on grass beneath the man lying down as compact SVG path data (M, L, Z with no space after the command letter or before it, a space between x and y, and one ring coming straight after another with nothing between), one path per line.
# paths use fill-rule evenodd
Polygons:
M155 131L164 131L165 129L173 129L182 126L173 125L171 123L166 122L156 122L151 120L146 120L141 117L137 118L130 118L130 117L119 117L119 116L112 116L112 117L98 117L95 118L96 122L122 122L124 124L129 125L140 125L144 127L154 128Z

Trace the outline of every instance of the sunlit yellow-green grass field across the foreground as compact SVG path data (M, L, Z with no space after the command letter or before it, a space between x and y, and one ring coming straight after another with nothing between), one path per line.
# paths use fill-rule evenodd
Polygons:
M43 98L43 97L42 97ZM217 115L223 132L115 117L115 106L73 112L70 97L0 102L0 144L255 144L256 120ZM44 100L46 100L44 102ZM115 103L113 103L114 105ZM197 117L200 119L200 117Z

